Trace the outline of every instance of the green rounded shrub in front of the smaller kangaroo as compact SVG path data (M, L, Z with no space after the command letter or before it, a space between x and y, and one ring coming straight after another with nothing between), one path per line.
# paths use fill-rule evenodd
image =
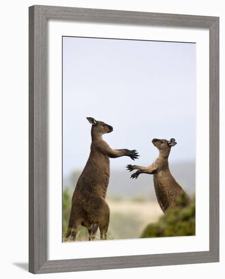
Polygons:
M195 201L183 208L170 208L158 222L147 225L140 237L185 235L195 235Z

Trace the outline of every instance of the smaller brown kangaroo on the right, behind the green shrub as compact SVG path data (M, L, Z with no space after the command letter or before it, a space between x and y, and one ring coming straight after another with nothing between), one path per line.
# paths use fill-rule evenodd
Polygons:
M159 150L159 157L148 167L127 165L126 167L130 171L138 169L132 174L131 178L137 179L140 173L153 175L156 197L163 212L165 212L167 208L187 205L189 198L175 181L169 170L168 157L171 147L177 144L175 139L171 138L170 141L167 141L154 138L152 143ZM185 197L185 204L179 203L181 195Z

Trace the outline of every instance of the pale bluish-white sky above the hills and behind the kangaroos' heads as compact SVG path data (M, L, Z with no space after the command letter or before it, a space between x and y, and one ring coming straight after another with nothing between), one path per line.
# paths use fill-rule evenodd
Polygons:
M137 149L149 165L151 141L174 137L171 162L195 160L195 44L63 37L63 176L83 169L94 117L114 127L115 149ZM111 168L133 163L111 159Z

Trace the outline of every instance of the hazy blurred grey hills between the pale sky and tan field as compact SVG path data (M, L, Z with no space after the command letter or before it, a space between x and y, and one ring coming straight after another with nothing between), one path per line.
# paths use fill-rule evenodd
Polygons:
M189 195L195 192L195 162L169 163L170 171L175 180ZM74 190L83 169L74 169L70 175L63 178L63 189ZM156 200L153 175L142 173L137 180L130 179L133 172L124 169L110 171L106 199Z

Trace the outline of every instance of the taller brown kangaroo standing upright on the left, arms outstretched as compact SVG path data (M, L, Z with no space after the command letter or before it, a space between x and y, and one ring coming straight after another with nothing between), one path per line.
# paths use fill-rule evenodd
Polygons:
M100 238L106 239L109 224L109 207L105 201L109 182L109 158L129 156L138 158L136 150L111 149L102 135L113 131L113 127L102 121L87 117L92 124L91 152L77 186L73 192L71 212L66 238L76 240L80 225L88 229L89 240L95 238L100 229Z

